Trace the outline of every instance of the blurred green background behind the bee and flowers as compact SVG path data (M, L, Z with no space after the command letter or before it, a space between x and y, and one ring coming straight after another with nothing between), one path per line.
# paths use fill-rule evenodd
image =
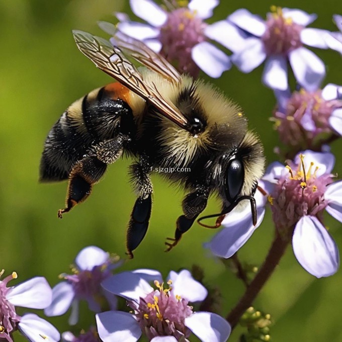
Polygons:
M304 0L300 4L222 1L210 22L224 19L241 7L264 17L271 5L317 13L313 27L336 30L331 17L340 8L339 0ZM97 245L125 259L126 223L135 201L128 184L128 160L109 167L87 202L63 220L57 218L57 210L64 205L66 183L38 183L40 155L52 125L74 100L111 81L77 50L71 30L106 37L96 22L114 22L114 11L134 17L127 0L0 0L0 269L4 268L6 274L17 271L18 281L43 275L55 285L57 275L68 272L77 252L87 245ZM337 52L315 52L326 62L326 82L341 84L341 59ZM275 100L273 93L261 85L261 75L262 68L250 74L233 68L213 82L242 106L250 127L261 135L270 162L276 160L273 148L278 142L268 121ZM341 147L340 141L332 145L338 174L342 169ZM197 264L205 271L205 281L220 288L220 313L226 315L242 295L243 285L203 249L202 243L215 231L195 225L172 252L164 253L165 238L174 234L184 194L165 184L158 175L152 178L154 204L149 231L135 251L135 258L125 261L121 270L154 268L166 276L169 270L189 269ZM217 212L218 207L212 199L205 213ZM327 218L327 225L342 248L341 224ZM259 265L272 238L268 214L239 252L241 259ZM271 313L275 321L271 330L274 341L342 341L341 284L340 271L327 279L310 276L289 248L255 304ZM67 317L50 321L64 331L69 329ZM91 317L81 313L74 331L87 329L90 322ZM229 340L237 341L241 331L236 329Z

